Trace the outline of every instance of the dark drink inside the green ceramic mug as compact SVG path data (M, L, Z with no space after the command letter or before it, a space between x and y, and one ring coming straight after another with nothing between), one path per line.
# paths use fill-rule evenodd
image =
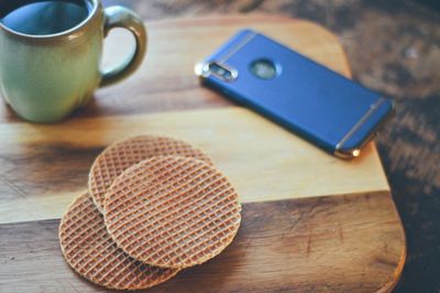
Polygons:
M11 0L0 3L0 21L23 34L57 34L80 24L91 13L88 0Z

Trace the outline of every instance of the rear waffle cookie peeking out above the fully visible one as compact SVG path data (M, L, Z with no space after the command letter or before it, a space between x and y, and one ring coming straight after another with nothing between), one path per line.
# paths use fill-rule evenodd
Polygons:
M154 135L140 135L117 142L107 148L91 166L89 192L99 211L110 185L125 169L155 155L196 158L212 164L211 159L189 143Z

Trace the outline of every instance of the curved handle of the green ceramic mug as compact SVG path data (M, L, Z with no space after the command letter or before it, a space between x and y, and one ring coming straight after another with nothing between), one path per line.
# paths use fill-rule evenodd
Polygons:
M122 28L129 30L135 41L136 47L133 55L125 59L121 65L114 69L103 70L100 87L116 84L129 75L133 74L145 57L147 34L146 29L141 20L133 11L123 7L109 7L105 9L105 37L109 34L110 30L114 28Z

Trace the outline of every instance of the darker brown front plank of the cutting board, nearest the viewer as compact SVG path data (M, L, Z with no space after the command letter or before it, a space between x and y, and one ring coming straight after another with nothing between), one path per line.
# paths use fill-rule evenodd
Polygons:
M400 223L387 193L243 205L232 245L151 292L375 292L402 270ZM64 261L59 220L0 225L2 292L105 291Z

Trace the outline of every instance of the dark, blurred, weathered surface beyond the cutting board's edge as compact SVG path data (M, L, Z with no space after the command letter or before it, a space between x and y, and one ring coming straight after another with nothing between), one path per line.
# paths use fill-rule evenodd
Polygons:
M231 13L315 21L343 44L353 77L396 101L377 138L408 257L396 292L440 292L439 0L103 0L147 22ZM292 37L295 37L294 35Z

